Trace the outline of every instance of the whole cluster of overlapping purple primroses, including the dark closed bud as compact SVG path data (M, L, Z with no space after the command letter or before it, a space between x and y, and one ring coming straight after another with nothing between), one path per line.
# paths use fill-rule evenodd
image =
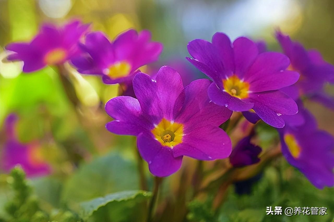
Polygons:
M233 149L219 128L233 111L252 123L262 119L278 128L282 152L318 188L333 186L333 137L317 128L304 107L302 96L333 109L324 84L334 83L333 65L315 51L307 51L281 32L276 37L284 54L269 52L264 43L239 37L233 42L224 33L212 41L188 43L186 58L209 79L183 87L180 75L163 66L151 77L138 69L157 61L163 46L152 42L149 31L128 30L110 41L102 32L90 32L79 21L63 27L43 25L30 43L11 43L8 60L22 60L23 71L70 61L82 74L100 75L105 84L126 84L132 96L109 100L106 112L114 119L110 132L137 136L138 150L152 174L175 173L183 156L199 160L230 156L234 166L259 161L261 148L251 136ZM82 40L81 40L82 39ZM83 40L84 39L84 40ZM232 152L232 154L231 154Z

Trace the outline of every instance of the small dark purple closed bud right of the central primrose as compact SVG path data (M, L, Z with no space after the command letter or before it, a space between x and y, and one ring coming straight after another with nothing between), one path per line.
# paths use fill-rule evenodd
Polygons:
M241 139L232 150L229 159L234 167L243 167L260 161L258 155L262 149L252 144L251 138L251 136L247 136Z

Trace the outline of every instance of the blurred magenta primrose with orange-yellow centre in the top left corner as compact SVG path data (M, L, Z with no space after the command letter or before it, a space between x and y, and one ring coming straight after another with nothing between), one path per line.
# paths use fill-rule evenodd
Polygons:
M79 53L77 43L89 29L88 24L72 21L62 27L43 24L30 43L10 43L5 49L15 53L8 60L23 61L23 72L33 72L47 65L64 63Z

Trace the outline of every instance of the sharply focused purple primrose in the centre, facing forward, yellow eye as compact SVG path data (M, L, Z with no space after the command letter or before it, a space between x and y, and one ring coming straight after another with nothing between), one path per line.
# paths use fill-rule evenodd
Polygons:
M183 156L199 160L222 159L231 153L231 141L219 128L232 112L210 102L211 81L199 79L183 88L180 75L168 66L156 80L138 73L133 80L137 99L119 96L109 100L106 112L115 120L106 128L137 136L137 147L152 174L175 173Z

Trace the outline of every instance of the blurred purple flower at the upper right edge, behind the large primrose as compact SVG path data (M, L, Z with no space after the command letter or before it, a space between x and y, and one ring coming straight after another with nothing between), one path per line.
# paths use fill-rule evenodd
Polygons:
M311 99L334 109L334 97L327 95L323 89L326 82L334 84L334 66L327 63L317 50L307 51L302 44L291 41L289 36L283 35L280 31L276 32L276 38L283 52L291 60L288 70L297 71L301 75L298 82L283 89L284 92L297 92L297 97L310 96Z

